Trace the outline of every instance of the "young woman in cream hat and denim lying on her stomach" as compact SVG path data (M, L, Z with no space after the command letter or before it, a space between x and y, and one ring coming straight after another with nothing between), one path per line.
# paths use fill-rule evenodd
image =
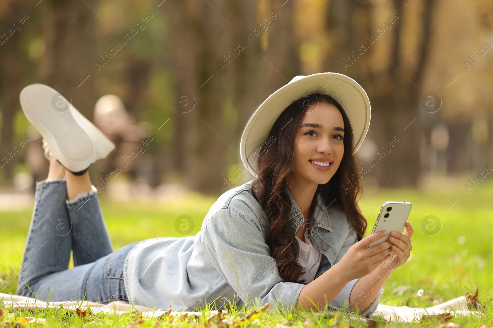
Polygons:
M61 99L59 107L53 99ZM405 233L378 245L368 247L386 233L363 238L361 179L347 181L357 177L354 152L368 130L370 103L347 76L297 76L259 106L241 141L242 161L256 179L224 192L196 236L116 251L86 172L113 145L47 86L26 87L21 105L45 140L50 170L36 183L19 295L174 310L239 298L238 305L329 306L369 316L388 276L409 258L409 222Z

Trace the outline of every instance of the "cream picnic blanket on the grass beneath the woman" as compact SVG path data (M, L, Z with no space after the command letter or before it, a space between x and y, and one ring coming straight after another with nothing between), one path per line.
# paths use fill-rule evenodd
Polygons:
M76 301L64 301L64 302L49 302L47 304L44 301L35 298L29 298L18 295L10 295L10 294L2 294L0 293L0 299L3 300L5 309L7 311L12 310L28 310L29 312L43 311L47 308L53 308L56 306L60 306L63 304L63 307L70 312L76 311L77 308L85 309L88 306L91 307L91 312L96 314L99 312L112 312L115 314L123 314L128 312L129 310L133 311L141 311L142 316L144 317L158 317L165 313L165 311L150 309L148 307L139 306L139 305L131 305L124 301L112 301L107 304L101 304L97 302L76 302ZM211 311L211 313L214 311ZM217 311L215 311L217 312ZM409 323L415 320L420 320L423 315L441 315L444 313L451 313L451 315L458 316L466 316L469 314L478 313L477 311L471 311L467 307L467 298L461 296L459 298L454 298L445 303L438 304L435 306L427 307L427 308L415 308L408 306L390 306L379 304L377 310L373 313L373 316L383 317L387 321L396 321L396 322L404 322ZM200 316L201 312L188 312L188 311L180 311L180 312L171 312L171 315L198 315ZM352 315L352 317L355 317ZM366 318L361 317L360 320L366 321Z

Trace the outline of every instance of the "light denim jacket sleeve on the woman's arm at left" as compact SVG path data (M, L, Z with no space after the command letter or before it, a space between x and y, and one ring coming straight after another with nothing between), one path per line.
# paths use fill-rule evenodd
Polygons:
M244 303L296 306L305 285L281 278L260 226L245 215L217 210L205 222L202 239L212 264Z

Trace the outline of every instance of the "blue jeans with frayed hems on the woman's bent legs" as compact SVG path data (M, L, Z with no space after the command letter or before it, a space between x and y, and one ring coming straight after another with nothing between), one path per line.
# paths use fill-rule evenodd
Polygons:
M36 183L17 295L128 301L123 264L136 243L113 252L96 193L93 188L69 201L64 179ZM74 267L69 269L70 250Z

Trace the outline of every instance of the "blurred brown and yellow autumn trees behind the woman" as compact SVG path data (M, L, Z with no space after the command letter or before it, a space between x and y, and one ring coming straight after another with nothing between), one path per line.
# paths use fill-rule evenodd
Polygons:
M0 7L0 33L29 15L0 44L0 155L32 133L18 101L26 85L67 92L88 118L96 100L112 93L152 126L148 153L163 181L178 176L213 193L241 163L241 133L258 105L295 75L323 71L346 74L367 91L368 142L401 138L372 172L381 184L416 186L436 170L476 172L493 152L493 56L476 55L493 46L489 0L5 0ZM390 17L398 18L390 24ZM258 40L246 42L261 23ZM241 43L246 49L231 57ZM116 44L121 50L108 55ZM221 67L226 57L231 62ZM176 108L182 92L193 96L190 113ZM441 97L436 113L420 105L427 92ZM438 155L430 143L437 124L450 134ZM4 182L24 155L2 169Z

